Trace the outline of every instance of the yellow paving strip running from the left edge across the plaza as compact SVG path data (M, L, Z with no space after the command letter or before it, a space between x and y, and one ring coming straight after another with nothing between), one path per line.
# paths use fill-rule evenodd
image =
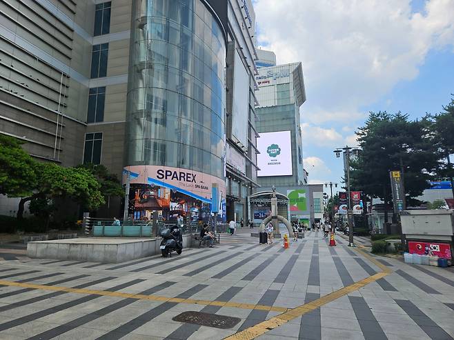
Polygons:
M233 307L246 310L269 310L270 312L286 312L288 308L278 306L264 306L254 305L250 303L237 303L237 302L226 302L226 301L209 301L209 300L196 300L196 299L181 299L178 297L161 297L159 295L144 295L144 294L131 294L126 292L109 292L107 290L92 290L92 289L80 289L80 288L69 288L62 286L43 286L33 283L21 283L15 281L0 280L0 285L21 287L21 288L32 288L39 290L54 290L57 292L71 292L77 294L93 294L101 295L106 297L121 297L124 299L137 299L137 300L150 300L160 302L175 302L175 303L186 303L191 305L213 305L221 307Z

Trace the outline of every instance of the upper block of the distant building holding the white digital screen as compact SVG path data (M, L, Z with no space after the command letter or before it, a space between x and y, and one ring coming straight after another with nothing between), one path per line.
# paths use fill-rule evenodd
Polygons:
M306 101L301 63L259 68L256 108L260 186L301 186L304 182L299 108ZM279 143L274 143L279 141ZM277 146L276 152L268 146ZM263 152L264 151L264 152Z

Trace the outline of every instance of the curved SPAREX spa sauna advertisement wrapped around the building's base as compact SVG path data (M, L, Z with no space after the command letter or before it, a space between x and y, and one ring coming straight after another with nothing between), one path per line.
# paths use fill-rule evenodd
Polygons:
M213 183L217 183L223 208L218 221L226 219L226 183L215 176L166 166L128 166L124 168L123 183L126 183L128 174L129 213L134 214L135 219L149 220L157 211L159 219L170 223L178 216L190 219L191 223L208 221Z

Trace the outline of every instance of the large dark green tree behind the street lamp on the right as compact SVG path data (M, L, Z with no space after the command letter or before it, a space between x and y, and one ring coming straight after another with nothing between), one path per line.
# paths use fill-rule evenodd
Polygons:
M390 170L401 170L407 205L417 203L428 188L431 174L440 166L440 153L431 138L431 121L409 121L397 112L371 112L357 132L362 152L351 161L351 185L369 197L392 202ZM385 221L388 216L385 210Z

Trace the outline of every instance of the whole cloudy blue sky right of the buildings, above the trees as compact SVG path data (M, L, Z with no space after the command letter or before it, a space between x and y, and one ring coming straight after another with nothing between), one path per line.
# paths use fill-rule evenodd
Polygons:
M312 183L339 182L333 150L355 143L369 111L415 119L451 101L454 0L257 0L254 8L259 46L278 63L302 61Z

